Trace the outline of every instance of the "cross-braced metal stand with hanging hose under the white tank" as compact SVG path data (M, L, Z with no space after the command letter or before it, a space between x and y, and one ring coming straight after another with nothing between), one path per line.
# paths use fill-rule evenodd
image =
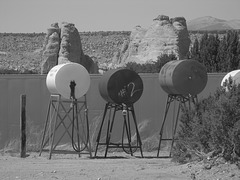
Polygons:
M84 113L84 118L81 117L81 112ZM68 122L66 122L67 119ZM61 127L64 129L63 131L60 131ZM58 129L62 135L55 141ZM72 100L65 100L61 98L61 95L51 95L39 155L41 156L44 147L49 143L49 159L51 159L53 151L57 151L55 148L66 133L71 138L72 147L79 154L79 157L85 149L92 157L86 95L82 101L75 99L74 96ZM77 136L76 140L74 136Z

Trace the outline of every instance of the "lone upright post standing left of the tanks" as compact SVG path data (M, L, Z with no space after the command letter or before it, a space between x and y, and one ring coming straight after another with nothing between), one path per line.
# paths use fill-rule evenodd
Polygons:
M20 99L20 156L26 157L26 95L22 94Z

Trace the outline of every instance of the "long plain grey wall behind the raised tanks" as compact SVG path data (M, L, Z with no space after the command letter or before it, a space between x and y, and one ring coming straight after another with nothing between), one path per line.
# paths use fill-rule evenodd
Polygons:
M141 98L134 105L137 122L147 124L144 136L159 132L165 111L167 94L161 89L158 74L140 74L144 90ZM207 97L218 87L225 74L209 74L206 88L198 98ZM33 126L43 128L50 93L45 84L44 75L0 75L0 148L13 138L20 136L20 96L27 96L27 121ZM101 75L91 75L91 85L87 92L87 104L89 109L90 133L95 131L96 123L102 120L105 101L99 94L98 82ZM171 133L171 120L174 116L174 108L171 107L167 119L167 128ZM116 119L122 119L121 113ZM121 120L117 120L120 123ZM116 123L117 124L117 123ZM118 124L116 125L118 126ZM119 128L116 134L119 132ZM103 132L104 133L104 132ZM146 137L143 137L146 138Z

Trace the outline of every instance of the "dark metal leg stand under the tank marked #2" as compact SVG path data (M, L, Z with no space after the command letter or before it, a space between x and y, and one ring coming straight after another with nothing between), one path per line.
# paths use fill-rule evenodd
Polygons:
M112 109L114 110L113 115L111 115ZM122 140L121 143L112 143L111 142L111 134L113 130L113 124L114 124L114 119L117 111L122 111L123 115L123 129L122 129ZM107 114L107 111L109 113L109 119L107 122L107 135L106 135L106 141L105 142L100 142L101 138L101 132L104 124L104 120ZM133 123L135 126L135 131L136 131L136 142L135 145L133 145L132 142L132 135L131 135L131 126L130 126L130 117L129 117L129 112L131 112L132 117L133 117ZM127 137L127 143L124 143L124 137ZM134 107L133 105L120 105L120 104L115 104L115 103L106 103L105 109L104 109L104 114L103 114L103 119L101 122L100 130L97 136L97 145L96 145L96 151L95 151L95 157L97 155L97 150L99 145L105 145L105 158L107 157L107 152L109 148L122 148L124 152L127 154L131 154L133 156L133 153L136 152L136 150L139 148L141 152L141 157L143 157L143 152L142 152L142 142L140 138L140 134L138 131L138 126L137 126L137 121L136 121L136 115L134 112Z

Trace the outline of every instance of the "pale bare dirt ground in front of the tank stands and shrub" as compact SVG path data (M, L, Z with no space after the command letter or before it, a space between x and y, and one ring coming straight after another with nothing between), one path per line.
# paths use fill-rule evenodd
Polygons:
M28 153L26 158L19 154L0 155L1 180L239 180L240 169L235 164L220 163L206 166L203 162L176 164L170 158L156 158L157 152L144 152L130 156L126 153L98 153L97 158L89 154ZM161 154L160 154L161 156Z

